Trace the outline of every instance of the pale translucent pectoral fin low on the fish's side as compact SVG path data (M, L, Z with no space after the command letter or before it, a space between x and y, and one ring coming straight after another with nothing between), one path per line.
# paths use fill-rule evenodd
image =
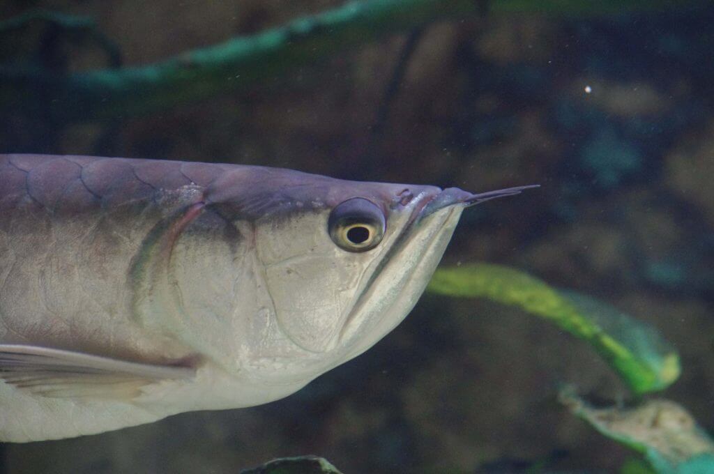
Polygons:
M51 398L131 399L161 380L187 380L195 369L151 365L36 346L0 344L0 379Z

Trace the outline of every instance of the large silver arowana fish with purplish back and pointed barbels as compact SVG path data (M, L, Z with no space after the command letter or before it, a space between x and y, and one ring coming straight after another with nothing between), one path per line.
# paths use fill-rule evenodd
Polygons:
M290 395L403 320L463 208L521 189L0 155L0 440Z

